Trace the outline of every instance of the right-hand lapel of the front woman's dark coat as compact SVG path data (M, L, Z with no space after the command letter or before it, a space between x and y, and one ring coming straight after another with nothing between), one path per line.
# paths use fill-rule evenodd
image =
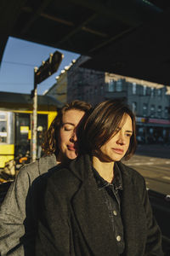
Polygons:
M142 244L146 234L144 226L144 207L141 207L139 193L133 182L132 175L126 167L120 164L122 170L122 222L124 227L125 251L127 256L137 255L139 248L144 248ZM141 195L142 196L142 195ZM139 254L138 254L139 255ZM142 255L142 253L141 253Z

